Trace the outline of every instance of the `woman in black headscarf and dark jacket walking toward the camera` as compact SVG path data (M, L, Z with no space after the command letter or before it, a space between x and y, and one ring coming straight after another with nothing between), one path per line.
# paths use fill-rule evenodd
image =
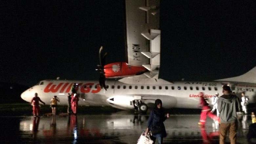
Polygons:
M166 131L163 122L169 116L169 113L167 113L165 116L164 110L162 108L162 101L160 99L156 99L155 107L150 111L147 130L145 132L145 134L148 134L149 131L152 132L153 135L151 139L154 141L154 143L156 142L156 139L159 144L163 143L163 137L166 137Z

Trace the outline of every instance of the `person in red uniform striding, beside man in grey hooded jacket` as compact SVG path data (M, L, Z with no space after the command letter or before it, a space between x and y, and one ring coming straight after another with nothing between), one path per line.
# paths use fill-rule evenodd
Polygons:
M203 92L199 93L200 96L200 105L202 106L202 112L200 115L200 121L199 121L199 125L204 125L206 122L206 118L207 116L210 117L213 120L218 120L220 121L220 117L217 117L216 115L211 113L211 108L208 105L208 103L206 102L206 100L203 97Z

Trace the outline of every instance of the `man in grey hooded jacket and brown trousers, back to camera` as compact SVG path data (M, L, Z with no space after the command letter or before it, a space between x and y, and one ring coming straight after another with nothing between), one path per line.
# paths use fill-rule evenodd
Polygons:
M225 143L227 131L229 130L230 144L236 143L236 133L238 127L236 112L241 111L239 98L232 94L229 86L223 86L223 94L218 99L218 111L220 112L220 144Z

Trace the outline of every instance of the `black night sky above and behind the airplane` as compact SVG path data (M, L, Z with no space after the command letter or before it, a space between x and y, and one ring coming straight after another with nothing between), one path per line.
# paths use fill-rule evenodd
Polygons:
M121 0L1 1L0 81L97 80L106 63L125 61ZM160 1L160 78L211 81L256 66L256 2Z

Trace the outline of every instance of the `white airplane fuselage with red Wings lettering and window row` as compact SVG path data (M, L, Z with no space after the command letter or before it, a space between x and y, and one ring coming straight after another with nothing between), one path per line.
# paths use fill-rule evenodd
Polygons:
M56 95L59 105L67 105L68 93L71 93L72 83L78 83L78 105L84 106L113 106L119 109L133 109L132 101L141 99L149 107L155 99L161 99L165 108L199 108L199 92L211 101L216 92L222 94L221 82L187 82L179 81L170 84L126 84L120 81L106 81L107 90L99 87L98 81L62 81L45 80L31 87L21 94L21 98L31 102L34 93L50 104ZM238 97L245 92L249 96L249 103L255 103L256 84L228 83Z

